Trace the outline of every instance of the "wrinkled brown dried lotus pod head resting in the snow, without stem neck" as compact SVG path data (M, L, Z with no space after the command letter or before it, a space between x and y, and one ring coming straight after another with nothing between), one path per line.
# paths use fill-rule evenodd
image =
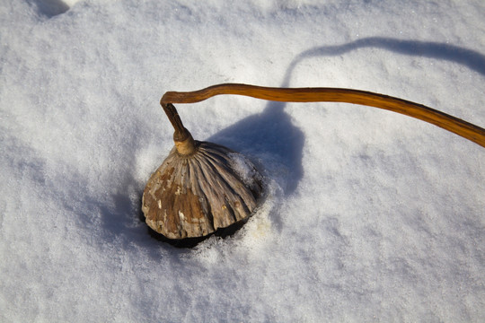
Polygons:
M173 148L143 194L146 223L169 239L203 237L245 220L261 196L251 162L218 144L196 144L191 155Z

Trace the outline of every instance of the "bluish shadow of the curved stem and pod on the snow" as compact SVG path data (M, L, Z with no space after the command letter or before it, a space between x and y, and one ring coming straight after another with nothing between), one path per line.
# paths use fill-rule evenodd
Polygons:
M485 56L472 49L438 42L370 37L342 45L305 50L288 65L280 87L289 86L295 66L305 58L340 56L359 48L382 48L402 55L443 59L465 65L485 75ZM289 195L295 191L304 174L302 167L304 133L293 125L291 118L285 112L285 106L283 102L269 102L260 114L244 118L233 126L212 135L208 140L224 144L234 150L250 151L255 155L258 153L274 155L289 171L287 188L285 188L285 194Z

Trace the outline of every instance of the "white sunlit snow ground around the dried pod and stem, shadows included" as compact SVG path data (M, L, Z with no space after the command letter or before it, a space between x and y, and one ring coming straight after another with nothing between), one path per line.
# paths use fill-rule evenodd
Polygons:
M485 149L336 103L179 105L269 196L195 249L140 196L158 101L215 83L333 86L485 127L485 2L0 1L0 321L485 321Z

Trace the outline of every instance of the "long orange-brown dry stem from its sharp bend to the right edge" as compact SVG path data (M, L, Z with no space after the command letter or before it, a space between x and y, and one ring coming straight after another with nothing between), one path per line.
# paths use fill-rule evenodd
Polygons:
M244 95L283 102L345 102L387 109L412 118L419 118L485 147L485 129L437 109L375 92L340 88L272 88L225 83L193 92L166 92L160 103L163 107L170 103L195 103L220 94Z

